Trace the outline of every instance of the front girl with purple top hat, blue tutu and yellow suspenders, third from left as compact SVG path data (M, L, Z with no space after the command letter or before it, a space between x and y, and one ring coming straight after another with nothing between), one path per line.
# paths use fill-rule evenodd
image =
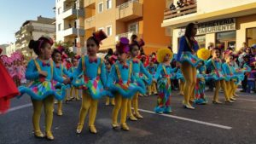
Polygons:
M145 94L145 85L143 82L136 81L132 73L132 62L127 60L129 53L129 39L120 38L116 49L119 60L112 66L108 78L108 89L114 94L115 106L113 107L112 126L118 128L118 115L121 109L120 124L122 130L129 130L126 124L127 102L133 95L140 92ZM115 82L115 84L113 84Z

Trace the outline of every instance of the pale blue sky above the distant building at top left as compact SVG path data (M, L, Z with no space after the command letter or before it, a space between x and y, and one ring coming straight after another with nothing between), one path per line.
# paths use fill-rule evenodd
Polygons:
M39 15L54 18L55 0L0 0L0 44L15 42L15 32Z

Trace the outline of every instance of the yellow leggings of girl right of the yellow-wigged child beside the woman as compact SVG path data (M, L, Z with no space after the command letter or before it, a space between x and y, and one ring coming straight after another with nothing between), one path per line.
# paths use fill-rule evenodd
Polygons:
M228 85L224 80L219 80L215 82L215 91L213 95L213 101L218 101L218 92L220 88L224 90L224 96L226 101L229 101L230 97L229 97L229 90L227 89Z

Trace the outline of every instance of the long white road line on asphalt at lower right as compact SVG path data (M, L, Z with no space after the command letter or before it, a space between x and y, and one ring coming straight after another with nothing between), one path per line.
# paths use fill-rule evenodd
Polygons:
M143 109L139 109L139 111L147 112L147 113L151 113L151 114L157 114L153 111L148 111L148 110L143 110ZM221 124L212 124L212 123L204 122L201 120L196 120L196 119L191 119L191 118L183 118L183 117L178 117L178 116L174 116L174 115L170 115L170 114L157 114L157 115L168 117L168 118L176 118L176 119L180 119L180 120L184 120L184 121L188 121L188 122L192 122L192 123L197 123L197 124L204 124L204 125L217 127L217 128L221 128L221 129L225 129L225 130L232 129L232 127L230 127L230 126L225 126L225 125L221 125Z

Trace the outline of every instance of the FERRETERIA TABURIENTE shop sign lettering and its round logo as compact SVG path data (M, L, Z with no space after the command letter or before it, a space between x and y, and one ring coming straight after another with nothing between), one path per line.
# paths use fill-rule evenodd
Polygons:
M213 33L213 32L226 32L236 30L236 19L223 19L213 20L198 24L197 35ZM178 32L178 36L181 37L185 33L185 28L181 28Z

